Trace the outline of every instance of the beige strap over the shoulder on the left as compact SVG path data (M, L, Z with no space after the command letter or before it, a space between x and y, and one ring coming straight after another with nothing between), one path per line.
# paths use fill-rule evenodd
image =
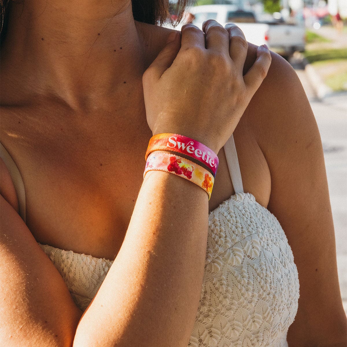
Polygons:
M0 142L0 157L5 162L5 165L10 172L13 184L18 197L19 203L19 215L22 217L25 223L25 189L22 176L20 176L17 165L11 158L10 154L7 152L6 148Z

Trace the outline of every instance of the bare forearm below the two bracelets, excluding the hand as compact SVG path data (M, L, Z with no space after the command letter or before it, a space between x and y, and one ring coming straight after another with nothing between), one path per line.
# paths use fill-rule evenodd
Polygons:
M162 171L146 174L127 234L74 346L186 346L200 299L208 195Z

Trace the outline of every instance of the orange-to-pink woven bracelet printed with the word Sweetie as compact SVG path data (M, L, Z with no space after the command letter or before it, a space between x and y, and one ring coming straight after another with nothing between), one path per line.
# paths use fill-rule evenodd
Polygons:
M216 176L218 168L218 156L204 144L178 134L163 133L151 137L146 151L145 159L153 151L172 151L186 154L200 161L208 167L213 177Z

